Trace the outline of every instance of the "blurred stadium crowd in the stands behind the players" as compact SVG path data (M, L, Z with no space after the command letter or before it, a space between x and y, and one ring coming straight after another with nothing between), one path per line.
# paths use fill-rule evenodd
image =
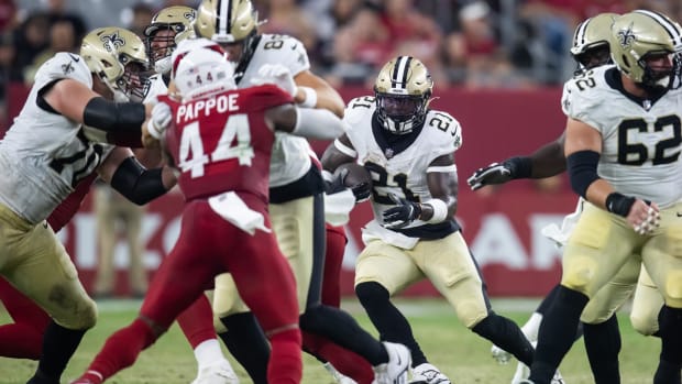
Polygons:
M396 55L420 58L436 84L468 88L561 85L575 68L575 25L600 12L650 9L682 20L679 0L255 0L265 33L302 41L333 86L366 85ZM30 84L54 52L85 32L141 33L161 8L194 0L0 0L0 86Z

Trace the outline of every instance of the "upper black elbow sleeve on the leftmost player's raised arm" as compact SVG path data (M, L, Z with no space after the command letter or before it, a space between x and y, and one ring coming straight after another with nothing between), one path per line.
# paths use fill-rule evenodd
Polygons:
M102 97L88 101L82 112L86 125L107 132L107 142L142 147L142 123L146 116L140 102L113 102Z

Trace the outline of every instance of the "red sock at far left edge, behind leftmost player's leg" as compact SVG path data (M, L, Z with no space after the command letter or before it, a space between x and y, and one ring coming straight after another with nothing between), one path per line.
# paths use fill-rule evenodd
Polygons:
M42 352L43 333L35 328L23 323L0 327L0 356L38 360Z

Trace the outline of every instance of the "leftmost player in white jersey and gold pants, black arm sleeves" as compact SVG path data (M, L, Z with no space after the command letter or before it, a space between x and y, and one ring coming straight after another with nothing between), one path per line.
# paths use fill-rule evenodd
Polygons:
M132 32L92 31L80 55L57 53L38 68L24 108L0 142L0 274L51 317L29 383L58 383L96 322L95 303L44 220L100 166L112 149L108 143L140 144L145 107L127 100L144 97L140 72L146 63L144 45ZM124 185L127 177L110 182L117 189L135 187ZM144 187L152 197L165 193L163 175Z

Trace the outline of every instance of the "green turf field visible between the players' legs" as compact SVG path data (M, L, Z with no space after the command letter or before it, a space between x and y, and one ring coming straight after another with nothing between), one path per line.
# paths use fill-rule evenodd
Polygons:
M100 318L90 330L72 360L64 383L75 378L87 366L103 340L118 328L125 326L135 316L140 301L113 300L100 303ZM536 300L494 300L497 312L518 322L526 320ZM420 341L430 361L439 366L457 384L509 383L516 369L516 361L498 365L490 355L491 344L459 323L448 305L439 299L403 299L399 307L410 319L415 336ZM344 301L349 309L366 328L374 330L362 308L352 300ZM619 316L623 333L620 370L623 384L651 382L659 354L659 341L645 338L632 330L627 314ZM0 308L0 323L9 321ZM304 356L305 384L332 383L327 371L308 355ZM250 383L241 366L234 364L243 383ZM0 358L0 384L22 384L32 374L35 363ZM592 376L584 354L582 341L578 342L561 365L561 373L568 384L592 383ZM108 383L118 384L188 384L196 374L196 364L189 344L179 329L174 326L155 345L140 355L128 369Z

